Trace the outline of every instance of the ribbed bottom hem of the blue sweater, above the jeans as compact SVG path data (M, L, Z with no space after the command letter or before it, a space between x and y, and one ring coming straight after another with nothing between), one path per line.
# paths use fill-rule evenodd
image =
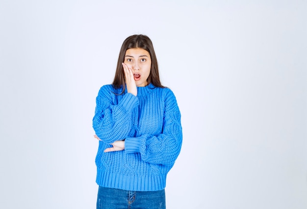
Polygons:
M96 183L101 187L129 191L159 191L165 188L166 175L125 176L97 168Z

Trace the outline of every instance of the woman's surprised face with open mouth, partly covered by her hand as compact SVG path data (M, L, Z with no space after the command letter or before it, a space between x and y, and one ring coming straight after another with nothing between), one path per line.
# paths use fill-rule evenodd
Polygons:
M152 60L148 51L142 48L131 48L126 51L125 64L131 68L136 86L146 86Z

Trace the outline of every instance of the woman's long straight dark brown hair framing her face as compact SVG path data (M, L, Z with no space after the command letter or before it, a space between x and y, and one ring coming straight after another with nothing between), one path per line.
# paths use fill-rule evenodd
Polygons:
M148 84L153 84L154 86L164 88L164 86L160 82L158 62L157 62L157 58L154 53L153 43L150 40L150 38L145 35L132 35L132 36L129 36L123 42L123 45L119 52L115 77L114 77L112 85L116 89L123 87L122 93L124 93L126 89L126 85L125 85L126 83L125 83L125 74L124 74L124 68L123 68L122 63L124 63L125 61L126 51L131 48L142 48L148 51L148 53L150 54L151 60L152 60L152 66L151 66L151 70L150 70L150 74L148 76L147 82Z

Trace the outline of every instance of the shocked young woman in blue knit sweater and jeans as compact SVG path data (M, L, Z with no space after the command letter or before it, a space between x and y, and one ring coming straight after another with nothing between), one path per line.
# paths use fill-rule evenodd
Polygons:
M165 209L166 175L179 155L182 129L147 36L124 41L114 81L101 87L96 103L97 209Z

